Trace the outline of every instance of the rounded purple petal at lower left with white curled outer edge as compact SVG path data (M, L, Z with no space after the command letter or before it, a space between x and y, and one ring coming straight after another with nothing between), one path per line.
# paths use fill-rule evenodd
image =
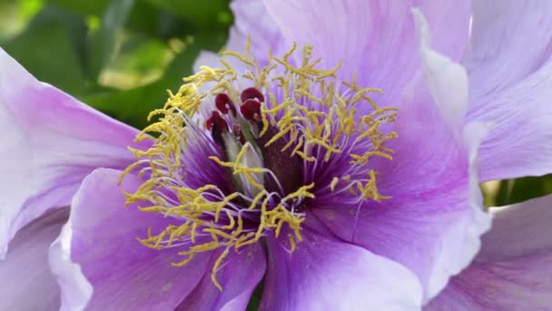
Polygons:
M75 265L82 267L79 274L78 269L67 270L66 265L57 263L60 269L54 272L60 283L63 281L64 307L86 305L86 295L74 292L71 286L79 284L84 276L94 286L87 304L91 309L173 309L200 282L210 256L196 256L179 268L171 265L183 259L177 254L182 250L179 247L158 251L136 241L136 237L146 235L148 227L155 232L173 222L162 218L161 223L136 206L125 209L124 196L117 186L119 176L119 171L95 170L74 196L67 230L61 236L62 242L69 241L70 245L53 247L51 254L54 259L70 256ZM124 178L126 191L132 192L140 185L137 177Z

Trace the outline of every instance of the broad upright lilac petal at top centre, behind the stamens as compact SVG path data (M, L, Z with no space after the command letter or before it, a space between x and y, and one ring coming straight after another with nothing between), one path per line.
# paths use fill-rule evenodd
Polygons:
M419 71L418 40L410 9L420 7L439 29L435 46L454 59L468 41L468 1L293 1L264 0L268 13L288 40L314 47L322 65L343 61L340 77L358 73L363 86L379 87L380 105L399 105L402 89Z

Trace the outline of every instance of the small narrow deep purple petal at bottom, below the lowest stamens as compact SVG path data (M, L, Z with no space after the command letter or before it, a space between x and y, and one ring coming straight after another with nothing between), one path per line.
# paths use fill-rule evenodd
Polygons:
M217 256L212 257L211 265L216 259ZM253 290L264 276L264 250L260 244L241 249L237 254L232 249L223 265L216 274L222 291L213 285L211 273L206 273L200 285L176 310L245 310Z

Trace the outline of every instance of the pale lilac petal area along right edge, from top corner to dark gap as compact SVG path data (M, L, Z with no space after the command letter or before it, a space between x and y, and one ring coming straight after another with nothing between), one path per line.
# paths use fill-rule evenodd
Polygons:
M477 1L467 55L468 121L494 122L481 180L552 172L552 2Z

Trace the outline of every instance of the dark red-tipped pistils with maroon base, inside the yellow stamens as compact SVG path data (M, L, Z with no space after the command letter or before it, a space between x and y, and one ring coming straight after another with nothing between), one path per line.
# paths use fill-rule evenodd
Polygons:
M250 183L247 176L234 178L234 186L248 196L256 196L263 189L281 195L296 191L302 182L301 158L291 155L291 149L285 147L285 137L267 145L271 138L278 134L278 128L274 125L269 125L262 135L260 133L263 127L261 103L265 103L264 95L257 88L249 87L242 91L240 100L242 104L238 114L236 105L229 95L217 94L217 110L212 111L205 127L211 131L213 141L224 150L224 161L235 162L240 151L247 145L242 156L243 165L264 167L269 175L265 177L264 173L251 174L254 183ZM287 143L289 144L289 141Z

